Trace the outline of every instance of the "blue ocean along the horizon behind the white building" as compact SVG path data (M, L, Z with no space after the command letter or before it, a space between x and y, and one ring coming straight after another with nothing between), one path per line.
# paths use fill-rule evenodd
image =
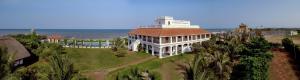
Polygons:
M112 39L125 37L131 29L36 29L39 35L58 34L64 38ZM206 29L210 32L230 31L231 29ZM28 34L31 29L0 29L0 36L9 34Z

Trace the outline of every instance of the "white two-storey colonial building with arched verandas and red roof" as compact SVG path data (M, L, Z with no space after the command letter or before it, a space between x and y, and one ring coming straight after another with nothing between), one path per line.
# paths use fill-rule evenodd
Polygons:
M193 43L209 40L211 34L187 20L174 20L163 16L155 25L134 29L128 33L128 49L138 51L138 45L146 53L164 58L190 52Z

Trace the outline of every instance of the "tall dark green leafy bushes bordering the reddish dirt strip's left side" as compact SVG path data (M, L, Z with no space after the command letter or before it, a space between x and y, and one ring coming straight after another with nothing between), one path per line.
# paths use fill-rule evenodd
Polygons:
M234 66L231 80L267 80L268 62L272 60L272 53L268 52L271 44L263 37L252 37L246 43L246 49L240 63Z

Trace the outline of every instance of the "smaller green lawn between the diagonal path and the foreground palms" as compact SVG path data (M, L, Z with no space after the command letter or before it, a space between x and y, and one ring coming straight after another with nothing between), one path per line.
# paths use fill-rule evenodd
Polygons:
M170 74L166 74L169 76L170 80L181 80L183 77L178 74L178 71L176 71L175 68L178 68L178 65L175 62L179 62L180 64L184 64L186 62L190 62L193 59L192 54L183 54L183 55L177 55L172 56L164 59L153 59L138 65L130 66L127 68L123 68L114 72L109 73L107 80L115 80L118 73L126 73L129 72L130 68L138 67L141 69L148 69L152 72L155 72L159 75L160 80L162 80L164 76L162 76L162 73L165 73L164 71L171 71ZM162 67L164 65L164 67ZM166 69L166 70L162 70Z

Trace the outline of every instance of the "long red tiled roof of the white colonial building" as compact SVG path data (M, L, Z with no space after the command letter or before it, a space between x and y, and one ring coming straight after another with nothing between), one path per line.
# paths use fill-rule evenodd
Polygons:
M209 33L200 28L137 28L130 31L129 35L145 36L175 36L175 35L196 35Z

